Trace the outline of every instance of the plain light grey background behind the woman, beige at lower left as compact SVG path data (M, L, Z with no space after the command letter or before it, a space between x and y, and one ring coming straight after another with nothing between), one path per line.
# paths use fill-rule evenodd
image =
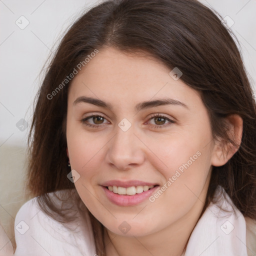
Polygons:
M13 242L13 221L24 202L28 129L39 72L66 28L95 0L0 0L0 221ZM201 0L233 21L251 84L256 87L256 0ZM29 24L20 29L23 15Z

